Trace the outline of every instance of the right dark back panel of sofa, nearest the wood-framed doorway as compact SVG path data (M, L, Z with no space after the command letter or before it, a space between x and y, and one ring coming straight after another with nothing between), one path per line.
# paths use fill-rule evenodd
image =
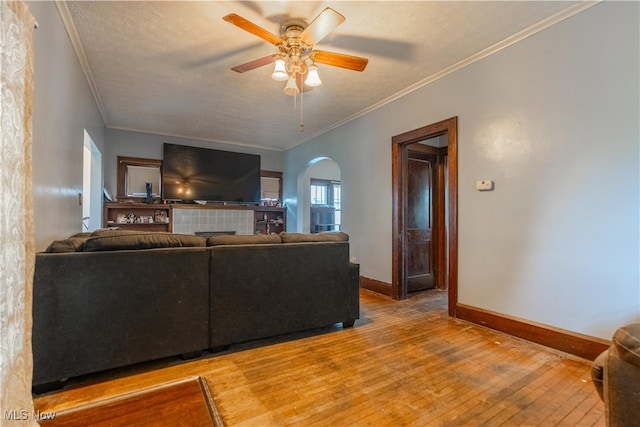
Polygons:
M353 318L349 243L216 246L211 251L210 346Z

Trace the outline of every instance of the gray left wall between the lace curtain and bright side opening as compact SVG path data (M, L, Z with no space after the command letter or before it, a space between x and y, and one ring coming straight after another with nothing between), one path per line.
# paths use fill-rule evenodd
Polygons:
M53 2L26 2L34 39L33 197L36 250L82 230L85 129L104 152L103 129L80 64Z

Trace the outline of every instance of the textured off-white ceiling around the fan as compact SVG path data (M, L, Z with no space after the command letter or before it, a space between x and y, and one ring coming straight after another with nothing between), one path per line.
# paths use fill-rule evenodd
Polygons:
M72 1L58 7L107 127L283 150L587 6ZM279 35L285 20L310 22L325 7L346 21L317 48L368 58L363 73L320 64L322 86L294 106L284 83L270 78L272 66L230 70L277 48L223 16L237 13Z

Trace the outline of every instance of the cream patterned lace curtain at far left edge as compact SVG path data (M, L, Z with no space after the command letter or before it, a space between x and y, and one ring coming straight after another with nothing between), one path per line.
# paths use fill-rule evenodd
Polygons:
M0 424L37 426L31 396L35 21L20 1L0 1L0 16Z

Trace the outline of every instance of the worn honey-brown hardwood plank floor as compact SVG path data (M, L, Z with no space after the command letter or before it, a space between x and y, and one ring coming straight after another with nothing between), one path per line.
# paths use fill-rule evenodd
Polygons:
M200 375L228 426L604 426L590 362L451 319L446 294L361 291L338 326L84 378L34 399L61 411Z

